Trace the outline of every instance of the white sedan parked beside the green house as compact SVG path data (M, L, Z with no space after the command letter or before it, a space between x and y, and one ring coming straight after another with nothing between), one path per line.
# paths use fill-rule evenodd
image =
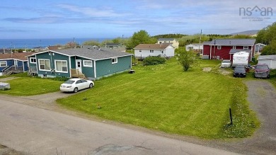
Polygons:
M94 82L91 80L85 79L69 79L60 85L60 91L65 92L78 92L84 88L92 88L94 86Z

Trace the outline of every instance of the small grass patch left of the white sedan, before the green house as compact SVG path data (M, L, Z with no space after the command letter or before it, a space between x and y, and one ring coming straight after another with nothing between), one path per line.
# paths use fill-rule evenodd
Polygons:
M0 94L11 96L33 96L42 93L52 93L59 91L59 85L62 84L62 81L24 76L6 82L10 84L11 89L0 91Z

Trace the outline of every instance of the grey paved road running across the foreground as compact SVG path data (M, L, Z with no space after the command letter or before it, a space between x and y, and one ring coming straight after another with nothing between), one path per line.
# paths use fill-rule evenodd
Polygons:
M27 154L234 154L0 98L0 144Z

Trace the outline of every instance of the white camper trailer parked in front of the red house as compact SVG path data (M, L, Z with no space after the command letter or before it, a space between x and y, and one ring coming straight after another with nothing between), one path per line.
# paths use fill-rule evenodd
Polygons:
M248 52L236 52L233 55L232 67L245 66L248 67L249 53Z

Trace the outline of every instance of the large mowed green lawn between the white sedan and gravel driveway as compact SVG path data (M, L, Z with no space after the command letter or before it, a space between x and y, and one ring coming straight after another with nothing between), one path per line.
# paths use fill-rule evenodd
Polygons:
M71 110L173 134L248 137L258 120L248 108L246 86L232 74L219 74L218 66L219 61L202 60L200 67L185 72L176 59L137 66L135 74L101 79L93 89L57 102ZM214 71L202 71L203 67ZM229 108L234 125L229 125Z

